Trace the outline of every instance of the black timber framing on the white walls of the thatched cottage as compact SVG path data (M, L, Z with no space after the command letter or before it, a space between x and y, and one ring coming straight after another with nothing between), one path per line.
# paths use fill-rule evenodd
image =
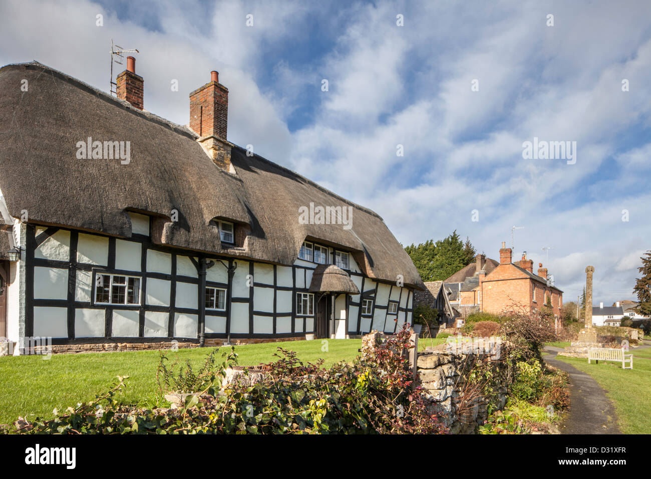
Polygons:
M199 254L198 252L192 252L192 251L186 251L186 250L179 250L178 248L173 248L171 246L165 246L165 245L159 245L159 244L154 244L149 237L146 237L145 235L137 235L134 234L131 238L120 238L120 240L126 240L126 241L133 241L137 242L141 245L141 258L140 258L140 270L118 270L116 269L116 242L117 239L116 237L110 237L108 235L102 235L100 233L92 233L88 231L78 231L75 229L69 229L69 228L64 228L64 227L59 227L59 228L54 228L54 227L45 227L45 226L40 226L38 225L39 228L44 228L43 231L41 231L38 234L38 241L39 243L37 244L37 235L36 235L36 224L26 224L26 239L25 239L25 281L26 281L26 289L25 289L25 336L32 337L34 334L34 308L35 306L55 306L59 308L66 308L67 311L67 329L68 329L68 338L55 338L53 341L56 341L57 343L93 343L93 342L102 342L102 341L117 341L120 340L120 342L150 342L150 341L162 341L162 340L171 340L174 337L174 319L176 316L176 313L187 313L187 314L197 314L197 317L199 317L199 304L197 305L197 309L194 308L178 308L176 307L176 287L177 287L177 282L184 282L184 283L191 283L191 284L197 284L198 289L201 290L201 280L199 278L195 278L192 276L184 276L181 274L178 274L178 256L183 255L184 257L188 257L190 261L193 261L193 263L198 263L197 259L215 259L217 261L221 259L228 261L229 264L229 269L232 268L234 264L234 258L233 257L219 257L218 255L212 255L212 256L204 256L202 254ZM70 233L70 254L68 257L68 261L61 261L61 260L56 260L56 259L44 259L44 258L36 258L35 257L35 252L36 248L38 248L39 244L42 244L44 241L46 241L51 235L54 235L57 233L57 231L68 231ZM79 235L83 233L84 235L95 235L98 237L102 237L107 239L109 243L109 251L108 251L108 260L107 260L107 265L104 267L102 265L94 265L90 263L79 263L77 261L77 250L79 246ZM147 255L148 255L148 250L154 250L154 251L159 251L159 252L165 252L167 254L171 255L171 270L169 274L167 273L162 273L162 272L148 272L147 271ZM333 254L334 254L333 250ZM195 259L196 258L196 259ZM251 277L253 277L254 273L254 267L255 267L255 261L246 259L247 263L249 264L249 274L251 274ZM350 261L350 254L349 254L349 261ZM270 264L270 263L263 263L262 264ZM34 291L34 276L35 276L35 267L52 267L52 268L58 268L58 269L66 269L68 270L68 291L66 295L66 299L60 299L60 300L50 300L50 299L35 299L35 291ZM227 290L227 308L223 312L218 312L218 311L206 311L206 315L210 316L217 316L217 317L225 317L226 319L226 328L225 331L219 332L219 333L210 333L210 334L205 334L206 338L227 338L227 337L232 337L234 339L240 339L240 338L291 338L291 337L296 337L296 336L301 336L302 334L306 332L313 332L314 331L314 317L307 317L307 316L301 316L298 317L296 315L296 294L301 291L301 292L309 292L309 284L307 283L307 271L313 271L313 267L307 267L305 265L292 265L292 286L279 286L278 284L278 275L279 275L279 270L278 270L278 265L273 265L273 284L267 284L267 283L252 283L251 287L249 287L249 297L232 297L232 289L233 289L233 284L232 284L232 278L229 278L227 283L223 282L212 282L206 280L206 285L209 286L214 286L214 287L221 287L225 288ZM90 302L85 302L85 301L77 301L76 298L76 288L77 288L77 272L79 271L86 271L91 274L91 285L90 285ZM128 275L128 276L139 276L141 278L141 300L139 305L120 305L120 306L115 306L115 305L105 305L105 304L95 304L94 303L94 280L95 280L95 275L97 272L106 272L109 274L123 274L123 275ZM303 282L305 283L303 287L298 288L297 287L297 276L298 274L303 275ZM349 274L351 276L357 276L361 277L361 282L362 282L362 287L361 287L361 295L360 297L360 302L356 303L353 302L352 297L347 297L346 298L346 332L348 334L348 329L351 327L349 325L349 321L354 321L353 318L349 317L350 313L350 306L357 306L357 330L355 331L357 334L361 333L361 298L373 298L373 314L372 314L372 321L374 319L374 314L375 314L375 308L378 309L385 309L387 306L381 306L376 304L376 298L377 298L377 291L378 291L378 283L389 283L389 282L383 282L379 280L373 280L375 284L374 290L370 291L364 291L365 287L365 282L367 279L367 276L362 274L361 272L353 271L350 270ZM154 306L154 305L148 305L146 304L146 297L147 297L147 282L148 279L159 279L159 280L167 280L170 282L170 298L169 298L169 306ZM255 287L267 287L267 288L273 288L273 312L258 312L254 309L254 296L255 296ZM279 312L278 310L278 300L279 300L279 295L278 291L291 291L292 297L291 297L291 312ZM198 291L199 293L199 291ZM411 290L408 291L408 300L411 294ZM401 293L400 296L402 297L402 288L401 288ZM391 290L389 293L389 297L391 297ZM199 298L197 298L199 299ZM232 323L232 302L237 302L237 303L248 303L249 304L249 317L248 317L248 322L249 322L249 332L248 333L238 333L238 334L232 334L231 331L231 323ZM87 308L87 309L104 309L105 310L105 317L104 317L104 336L99 337L99 338L76 338L75 336L75 315L76 315L76 310L79 308ZM130 338L115 338L112 336L113 334L113 311L114 310L137 310L139 312L139 324L138 324L138 336L137 337L130 337ZM400 312L405 312L406 313L406 318L408 317L408 314L412 311L411 308L408 307L408 302L404 308L398 308ZM156 337L156 338L149 338L145 337L145 312L167 312L168 313L168 319L167 319L167 336L164 338L161 337ZM271 334L269 333L255 333L255 325L254 325L254 315L259 315L262 317L270 317L272 318L273 321L273 332ZM290 327L290 332L283 332L279 333L278 332L278 317L285 317L285 316L291 316L291 327ZM385 315L386 317L386 315ZM312 328L307 327L307 321L311 319L312 320ZM300 328L300 323L302 321L302 330L298 330ZM197 327L199 328L199 321L197 321ZM352 323L352 327L354 328L354 322ZM310 330L309 330L310 329ZM353 331L350 331L350 333L353 333ZM188 341L188 342L193 342L193 341L198 341L199 338L175 338L177 340L183 340L183 341Z

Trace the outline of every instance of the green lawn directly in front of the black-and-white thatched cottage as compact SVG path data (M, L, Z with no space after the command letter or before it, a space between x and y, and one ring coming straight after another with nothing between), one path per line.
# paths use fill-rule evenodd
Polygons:
M329 366L339 360L351 362L361 347L361 340L284 341L241 345L235 348L239 363L255 366L273 360L276 348L296 351L303 361L316 362L324 358ZM227 351L229 347L222 347ZM327 349L327 351L322 351ZM211 348L168 351L173 359L178 355L201 364ZM154 405L157 403L156 366L158 351L126 351L120 353L87 353L78 355L0 357L0 424L8 424L27 414L51 416L57 407L64 410L77 402L94 399L106 392L118 375L128 375L126 390L120 395L125 403Z

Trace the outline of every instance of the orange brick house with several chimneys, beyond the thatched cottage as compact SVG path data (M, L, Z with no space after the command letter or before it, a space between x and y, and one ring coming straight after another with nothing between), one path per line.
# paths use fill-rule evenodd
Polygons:
M522 255L512 263L511 248L502 243L499 263L478 254L471 263L443 282L452 307L460 317L474 312L501 313L515 306L531 311L551 302L555 316L561 315L562 291L547 278L547 269Z

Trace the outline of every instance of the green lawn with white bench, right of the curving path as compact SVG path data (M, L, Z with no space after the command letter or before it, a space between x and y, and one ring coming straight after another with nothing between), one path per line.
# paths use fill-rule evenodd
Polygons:
M647 411L651 410L651 349L631 353L650 359L634 357L633 370L622 370L621 364L615 362L588 364L588 360L582 358L557 358L594 377L605 389L615 405L623 433L651 434L651 423L646 419Z

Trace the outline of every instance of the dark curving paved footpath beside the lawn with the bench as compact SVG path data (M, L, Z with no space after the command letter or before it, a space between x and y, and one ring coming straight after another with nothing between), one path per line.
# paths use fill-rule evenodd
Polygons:
M556 359L558 347L545 347L544 359L570 375L570 411L566 413L561 434L621 434L615 408L604 390L592 377L566 362Z

